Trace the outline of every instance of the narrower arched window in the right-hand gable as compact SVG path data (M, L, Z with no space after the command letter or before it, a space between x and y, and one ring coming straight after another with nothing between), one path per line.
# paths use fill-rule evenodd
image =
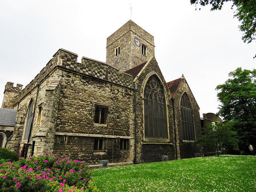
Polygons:
M184 93L180 101L180 117L182 128L182 139L195 140L193 110L188 95Z

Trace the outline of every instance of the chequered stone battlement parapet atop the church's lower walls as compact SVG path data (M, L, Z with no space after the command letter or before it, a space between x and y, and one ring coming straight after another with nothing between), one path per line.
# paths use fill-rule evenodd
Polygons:
M68 70L76 71L81 74L93 76L95 78L100 78L121 86L126 86L132 88L132 76L124 74L122 76L118 75L119 70L100 61L92 60L86 57L82 58L82 63L77 62L78 55L70 51L59 49L53 58L46 64L46 66L40 71L39 74L18 94L15 98L14 105L29 94L37 84L40 84L52 71L57 67L61 66ZM8 82L8 89L13 87L12 82ZM22 88L22 85L17 84L17 88ZM14 89L14 88L12 88Z

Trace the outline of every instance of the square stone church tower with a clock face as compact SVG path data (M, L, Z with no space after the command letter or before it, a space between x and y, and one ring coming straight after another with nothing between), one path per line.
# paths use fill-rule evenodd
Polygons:
M154 56L154 37L129 20L107 38L106 63L124 72Z

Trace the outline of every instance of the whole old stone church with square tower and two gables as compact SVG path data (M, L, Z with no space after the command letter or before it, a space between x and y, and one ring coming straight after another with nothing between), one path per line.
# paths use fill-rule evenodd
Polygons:
M199 152L199 106L183 75L165 81L152 35L130 20L107 38L106 63L77 57L59 49L23 90L6 84L1 109L16 115L8 135L0 126L6 148L116 165Z

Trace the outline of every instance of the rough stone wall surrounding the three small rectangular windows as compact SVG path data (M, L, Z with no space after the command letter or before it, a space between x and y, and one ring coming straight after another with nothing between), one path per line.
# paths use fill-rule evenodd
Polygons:
M132 161L134 150L133 90L105 79L110 73L94 61L83 59L84 64L98 67L91 72L103 73L102 79L62 70L62 88L58 108L58 121L54 154L96 164L98 160L112 162ZM125 78L112 72L112 81ZM130 76L127 76L130 78ZM132 81L130 82L132 85ZM95 104L108 106L106 125L94 124ZM104 138L104 152L93 150L94 138ZM120 151L120 138L129 139L129 150ZM114 149L114 154L113 154Z

